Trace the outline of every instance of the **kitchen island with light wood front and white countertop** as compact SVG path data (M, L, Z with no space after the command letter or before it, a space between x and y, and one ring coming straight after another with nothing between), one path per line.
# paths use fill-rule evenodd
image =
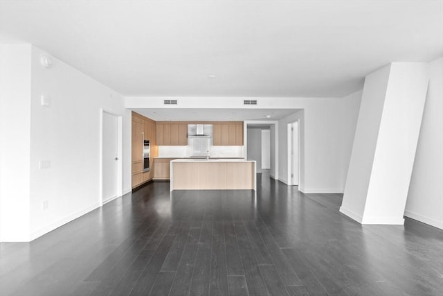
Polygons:
M255 161L244 159L174 159L171 191L183 189L256 189Z

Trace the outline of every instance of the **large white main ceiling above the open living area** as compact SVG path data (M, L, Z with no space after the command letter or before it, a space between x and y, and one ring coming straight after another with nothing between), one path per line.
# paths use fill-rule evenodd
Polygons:
M344 96L443 55L443 1L0 1L0 42L125 96Z

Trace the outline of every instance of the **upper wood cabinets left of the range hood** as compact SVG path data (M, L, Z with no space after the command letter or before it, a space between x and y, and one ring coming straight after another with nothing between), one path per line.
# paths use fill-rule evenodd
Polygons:
M156 123L156 144L159 146L188 145L188 123Z

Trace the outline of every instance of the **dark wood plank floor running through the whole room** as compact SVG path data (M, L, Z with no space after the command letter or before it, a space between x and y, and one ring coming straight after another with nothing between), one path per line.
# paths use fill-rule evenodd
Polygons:
M359 225L342 195L266 173L253 191L145 186L32 243L1 243L0 295L442 295L443 232Z

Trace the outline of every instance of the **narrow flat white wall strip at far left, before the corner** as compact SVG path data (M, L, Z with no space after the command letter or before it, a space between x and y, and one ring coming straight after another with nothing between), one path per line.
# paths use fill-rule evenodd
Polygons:
M0 44L0 241L29 241L30 58Z

